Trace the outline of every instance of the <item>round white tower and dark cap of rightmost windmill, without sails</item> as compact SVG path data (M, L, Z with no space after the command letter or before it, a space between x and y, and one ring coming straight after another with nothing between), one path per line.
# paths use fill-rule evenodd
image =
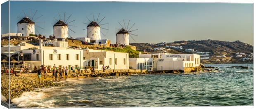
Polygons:
M124 28L121 28L120 31L116 33L116 43L130 45L129 33Z

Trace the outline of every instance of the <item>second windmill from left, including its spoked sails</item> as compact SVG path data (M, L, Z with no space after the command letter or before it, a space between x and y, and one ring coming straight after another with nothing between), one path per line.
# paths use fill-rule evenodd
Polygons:
M53 36L55 36L56 38L63 38L66 39L68 38L68 36L71 37L71 35L69 34L69 30L72 31L73 33L76 33L75 31L73 31L69 26L75 26L75 25L69 25L71 22L76 21L76 20L69 20L69 18L72 16L72 14L69 15L69 17L66 18L66 12L64 12L64 16L62 19L62 16L60 13L59 14L59 20L54 19L57 21L54 25L53 25Z

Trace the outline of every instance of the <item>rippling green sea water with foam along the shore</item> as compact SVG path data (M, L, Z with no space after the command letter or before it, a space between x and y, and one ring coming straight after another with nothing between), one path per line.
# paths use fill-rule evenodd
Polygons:
M206 66L218 71L70 78L60 87L24 92L11 108L253 105L253 64Z

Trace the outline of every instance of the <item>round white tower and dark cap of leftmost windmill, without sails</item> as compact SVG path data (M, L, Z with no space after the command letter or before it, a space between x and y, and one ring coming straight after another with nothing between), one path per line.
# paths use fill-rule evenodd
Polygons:
M22 36L29 36L29 34L35 34L35 22L31 21L28 17L24 17L18 23L18 32Z

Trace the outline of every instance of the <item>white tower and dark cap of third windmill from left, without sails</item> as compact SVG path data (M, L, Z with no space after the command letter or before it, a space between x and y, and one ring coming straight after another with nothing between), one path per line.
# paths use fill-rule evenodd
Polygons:
M90 38L90 40L100 40L100 26L97 24L97 22L92 21L87 26L87 38Z

